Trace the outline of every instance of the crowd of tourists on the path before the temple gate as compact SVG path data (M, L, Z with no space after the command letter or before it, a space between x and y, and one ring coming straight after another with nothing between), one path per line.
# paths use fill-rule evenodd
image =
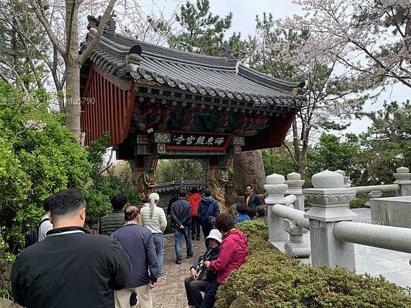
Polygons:
M249 189L251 188L251 189ZM214 307L216 292L248 255L247 237L235 224L264 217L251 185L238 216L220 213L209 188L179 190L169 203L175 237L175 263L182 264L182 238L190 259L192 240L203 231L205 253L192 264L184 281L189 307ZM124 195L111 198L112 213L99 220L99 234L84 229L86 201L78 190L63 190L44 201L45 215L36 243L16 257L12 292L16 302L38 307L152 307L150 290L164 276L163 232L167 227L160 196L127 205ZM247 215L248 214L248 215ZM38 241L38 242L37 242ZM204 293L204 296L201 294Z

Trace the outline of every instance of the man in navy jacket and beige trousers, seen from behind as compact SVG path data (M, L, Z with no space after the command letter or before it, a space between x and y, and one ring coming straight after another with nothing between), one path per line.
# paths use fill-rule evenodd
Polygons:
M132 264L132 280L123 290L115 292L116 308L129 307L132 292L136 292L140 308L151 308L150 289L157 284L158 259L155 255L153 234L145 227L139 226L140 211L134 205L124 211L125 224L113 232L111 238L120 242Z

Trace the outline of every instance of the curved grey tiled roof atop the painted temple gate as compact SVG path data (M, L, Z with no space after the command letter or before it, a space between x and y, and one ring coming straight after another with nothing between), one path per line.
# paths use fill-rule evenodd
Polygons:
M80 52L94 34L95 28L90 27ZM90 61L118 77L155 80L164 86L211 97L269 104L288 101L295 105L299 101L299 106L306 100L298 84L260 73L240 61L177 51L113 31L103 32Z

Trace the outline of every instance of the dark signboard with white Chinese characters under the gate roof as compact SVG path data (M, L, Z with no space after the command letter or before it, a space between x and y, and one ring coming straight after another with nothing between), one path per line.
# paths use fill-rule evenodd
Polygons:
M225 151L232 140L231 133L199 133L172 131L167 150L214 150Z

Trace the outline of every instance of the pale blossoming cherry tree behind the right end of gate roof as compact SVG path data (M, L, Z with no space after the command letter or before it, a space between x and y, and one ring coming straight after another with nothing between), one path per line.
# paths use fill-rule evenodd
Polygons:
M284 143L303 175L313 133L348 127L352 116L360 116L368 96L362 94L364 81L340 66L345 44L323 40L315 32L285 30L299 21L274 21L271 14L257 18L258 49L250 64L280 79L306 84L306 107L292 124L293 149Z

